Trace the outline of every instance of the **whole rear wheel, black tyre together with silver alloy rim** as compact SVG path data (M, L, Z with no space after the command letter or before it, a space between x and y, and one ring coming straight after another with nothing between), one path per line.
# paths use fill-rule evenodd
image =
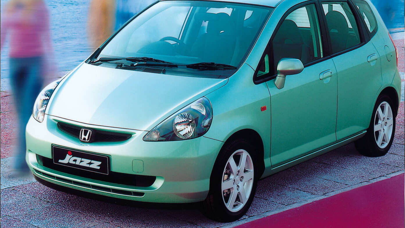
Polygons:
M366 135L355 142L356 149L364 156L384 156L391 148L395 134L395 110L388 95L377 98ZM380 138L381 137L381 138Z

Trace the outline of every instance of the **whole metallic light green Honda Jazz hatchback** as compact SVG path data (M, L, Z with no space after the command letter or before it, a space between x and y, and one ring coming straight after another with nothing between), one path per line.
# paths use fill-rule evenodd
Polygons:
M227 222L260 178L353 141L385 155L401 79L369 0L244 1L158 1L45 87L36 179Z

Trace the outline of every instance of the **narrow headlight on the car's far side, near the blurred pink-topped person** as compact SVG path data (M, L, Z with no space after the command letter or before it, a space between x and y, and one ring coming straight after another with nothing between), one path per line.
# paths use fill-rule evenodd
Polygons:
M38 122L42 123L45 117L45 109L47 108L49 99L53 94L53 90L59 85L60 81L62 81L64 77L58 79L51 84L47 85L38 95L34 103L34 109L32 110L32 116Z

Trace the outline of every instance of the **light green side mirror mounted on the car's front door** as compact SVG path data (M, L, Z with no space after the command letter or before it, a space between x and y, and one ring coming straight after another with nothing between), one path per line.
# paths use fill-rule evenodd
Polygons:
M304 70L304 65L301 60L294 58L282 58L277 64L277 77L274 84L278 89L284 87L287 75L296 75Z

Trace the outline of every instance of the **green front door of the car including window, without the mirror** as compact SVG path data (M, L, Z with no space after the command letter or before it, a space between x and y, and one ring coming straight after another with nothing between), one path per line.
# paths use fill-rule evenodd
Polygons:
M336 141L336 69L324 56L316 4L298 5L286 13L259 67L259 77L267 69L275 75L281 58L297 58L305 67L297 75L288 75L282 89L274 79L266 82L271 96L273 167ZM263 67L266 62L269 68Z

